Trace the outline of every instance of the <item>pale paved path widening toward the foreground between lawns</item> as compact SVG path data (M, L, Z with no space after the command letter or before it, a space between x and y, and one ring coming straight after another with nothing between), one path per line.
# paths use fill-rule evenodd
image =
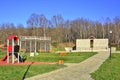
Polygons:
M25 80L93 80L90 73L97 70L108 56L109 52L99 52L81 63Z

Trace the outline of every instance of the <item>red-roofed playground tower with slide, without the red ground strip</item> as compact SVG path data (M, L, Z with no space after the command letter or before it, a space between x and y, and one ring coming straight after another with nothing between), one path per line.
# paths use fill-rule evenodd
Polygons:
M0 60L3 63L15 63L15 57L17 58L17 63L24 62L25 59L19 54L19 38L15 35L11 35L7 39L7 54Z

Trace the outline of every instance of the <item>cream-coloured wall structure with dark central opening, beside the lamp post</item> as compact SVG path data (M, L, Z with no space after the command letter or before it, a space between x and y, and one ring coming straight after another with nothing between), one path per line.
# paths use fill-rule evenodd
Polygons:
M76 50L78 52L88 51L108 51L108 39L76 39Z

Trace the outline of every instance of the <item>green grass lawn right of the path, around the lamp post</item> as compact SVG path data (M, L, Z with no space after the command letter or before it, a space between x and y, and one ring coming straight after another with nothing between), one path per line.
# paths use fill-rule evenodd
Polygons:
M112 59L107 59L91 75L95 80L120 80L120 54L112 54Z

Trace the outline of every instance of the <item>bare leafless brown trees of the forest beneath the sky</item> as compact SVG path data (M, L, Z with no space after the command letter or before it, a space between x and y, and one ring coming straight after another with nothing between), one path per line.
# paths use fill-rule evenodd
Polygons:
M9 35L17 36L49 36L52 42L75 42L76 39L109 38L114 44L120 44L120 17L113 19L107 17L101 20L92 21L85 18L64 20L61 15L54 15L50 20L44 14L33 13L23 24L0 23L0 40L6 43Z

